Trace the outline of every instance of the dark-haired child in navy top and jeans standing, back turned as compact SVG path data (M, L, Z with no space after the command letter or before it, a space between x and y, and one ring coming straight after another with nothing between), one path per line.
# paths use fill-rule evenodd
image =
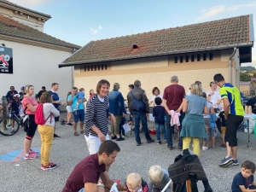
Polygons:
M165 125L165 115L166 115L166 109L163 106L160 106L162 103L162 99L160 97L155 97L154 98L154 103L155 107L153 108L153 117L154 117L154 125L156 129L156 138L157 138L157 143L156 144L161 144L161 139L160 139L160 129L162 130L164 134L164 139L166 140L166 145L167 145L167 137L166 137L166 125Z

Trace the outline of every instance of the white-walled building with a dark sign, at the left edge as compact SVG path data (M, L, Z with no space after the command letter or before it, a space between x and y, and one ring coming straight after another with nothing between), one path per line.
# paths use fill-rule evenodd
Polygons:
M43 85L50 90L50 85L56 82L60 84L58 93L65 101L67 91L73 86L73 67L59 69L58 63L80 46L44 33L44 23L50 15L6 0L0 0L0 10L0 55L3 55L1 50L9 48L13 55L13 73L0 70L0 96L5 96L11 85L20 91L21 86L32 84L38 93ZM0 61L0 69L9 71L3 61Z

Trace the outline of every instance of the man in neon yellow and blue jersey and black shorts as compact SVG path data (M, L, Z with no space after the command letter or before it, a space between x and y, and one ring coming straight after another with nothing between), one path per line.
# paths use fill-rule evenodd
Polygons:
M239 90L232 84L225 82L222 74L215 74L214 82L220 87L219 93L224 102L224 119L226 120L226 133L224 141L226 143L227 154L219 166L227 167L232 164L238 166L236 159L237 138L236 131L243 120L244 110L241 104Z

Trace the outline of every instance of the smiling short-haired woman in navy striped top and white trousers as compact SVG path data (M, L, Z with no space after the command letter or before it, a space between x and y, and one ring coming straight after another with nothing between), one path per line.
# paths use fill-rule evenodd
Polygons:
M109 140L108 115L113 124L115 118L108 113L108 80L102 79L96 86L96 95L92 96L86 104L84 115L84 137L90 154L96 154L102 142Z

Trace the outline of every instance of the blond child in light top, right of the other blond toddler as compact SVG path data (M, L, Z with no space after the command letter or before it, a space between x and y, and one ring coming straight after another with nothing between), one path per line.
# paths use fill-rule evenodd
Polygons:
M148 171L148 191L160 192L166 187L170 181L169 173L160 166L151 166ZM172 184L170 184L166 192L171 192Z

